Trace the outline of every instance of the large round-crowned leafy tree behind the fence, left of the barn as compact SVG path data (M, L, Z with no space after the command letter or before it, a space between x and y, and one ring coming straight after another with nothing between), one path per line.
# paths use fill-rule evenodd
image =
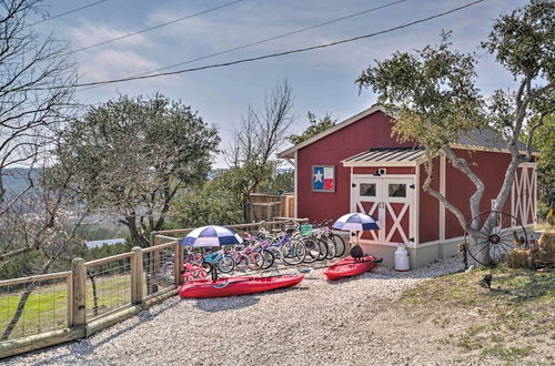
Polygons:
M175 194L205 179L219 142L215 126L181 101L120 95L68 128L57 155L82 200L123 216L132 241L147 247Z

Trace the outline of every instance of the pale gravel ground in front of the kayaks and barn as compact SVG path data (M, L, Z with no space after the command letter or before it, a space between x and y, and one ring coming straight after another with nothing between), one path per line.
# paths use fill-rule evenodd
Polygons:
M447 365L477 358L438 343L431 324L392 308L403 291L462 270L452 257L406 273L382 266L329 283L322 270L294 288L219 299L172 297L88 339L7 365ZM291 270L290 270L291 272Z

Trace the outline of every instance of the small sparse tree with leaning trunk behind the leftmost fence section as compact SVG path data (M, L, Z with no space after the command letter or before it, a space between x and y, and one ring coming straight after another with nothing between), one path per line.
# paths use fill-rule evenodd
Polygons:
M80 204L71 179L67 171L43 167L41 184L22 195L17 205L4 210L0 225L11 230L2 235L6 244L2 250L8 252L0 255L0 265L24 253L40 252L46 261L29 275L41 275L81 245L77 230L90 210ZM36 283L27 284L1 340L9 339L36 288Z

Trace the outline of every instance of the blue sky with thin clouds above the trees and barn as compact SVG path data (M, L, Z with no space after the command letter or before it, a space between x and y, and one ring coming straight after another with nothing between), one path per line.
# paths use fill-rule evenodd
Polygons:
M43 9L52 17L93 2L46 0ZM40 34L53 33L57 39L67 41L72 50L78 50L230 2L232 0L107 0L33 27ZM131 77L392 2L395 1L241 0L167 27L78 51L71 57L79 65L80 82ZM400 1L333 24L186 63L169 71L369 34L467 2L471 0ZM412 51L426 44L437 44L442 30L453 31L451 40L457 50L476 52L477 84L484 94L488 94L498 88L514 87L514 81L493 55L478 48L480 42L486 38L494 19L525 3L521 0L487 0L425 23L347 44L181 75L83 89L78 90L75 98L83 104L94 104L114 99L118 93L150 95L161 92L169 98L180 99L196 110L204 121L215 124L223 140L222 146L225 146L249 105L261 109L264 95L286 80L294 98L292 112L295 122L291 132L300 133L309 124L309 111L317 116L330 113L342 121L371 106L375 95L371 90L359 92L355 84L361 72L374 60L386 59L395 51ZM223 157L218 156L214 165L224 167Z

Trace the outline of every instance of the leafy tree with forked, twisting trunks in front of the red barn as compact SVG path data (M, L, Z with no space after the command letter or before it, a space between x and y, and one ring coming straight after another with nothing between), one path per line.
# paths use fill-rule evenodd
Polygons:
M498 132L511 153L503 186L494 210L500 210L511 193L519 163L531 159L518 152L517 142L523 126L535 118L551 113L555 104L555 3L532 0L526 7L494 21L493 30L482 47L494 54L518 83L516 91L497 90L486 102L475 85L476 59L451 50L448 34L437 47L426 47L416 53L397 52L390 60L376 61L357 79L360 88L370 87L379 93L379 102L395 113L394 131L404 140L418 141L426 148L427 179L423 190L440 200L474 237L482 236L494 225L491 215L485 223L470 226L464 214L438 191L431 187L432 156L443 153L453 166L474 184L470 200L472 215L480 212L484 182L473 172L468 162L457 157L450 143L473 129L488 126ZM487 119L486 119L487 116ZM487 122L486 122L487 121ZM528 146L537 128L532 125ZM487 245L484 244L484 245ZM488 251L481 251L488 262Z

